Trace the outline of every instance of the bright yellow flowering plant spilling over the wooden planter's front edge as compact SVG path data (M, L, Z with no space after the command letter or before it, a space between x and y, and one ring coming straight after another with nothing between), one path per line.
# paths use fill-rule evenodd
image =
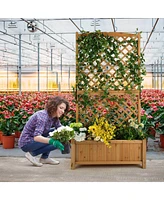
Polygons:
M95 141L104 142L107 147L110 147L110 140L113 139L115 126L109 124L105 117L96 118L93 125L88 127L88 133Z

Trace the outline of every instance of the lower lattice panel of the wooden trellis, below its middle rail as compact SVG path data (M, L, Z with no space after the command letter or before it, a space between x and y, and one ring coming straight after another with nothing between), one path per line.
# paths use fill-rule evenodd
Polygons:
M96 117L104 116L112 124L122 124L128 119L138 119L140 116L140 95L139 92L133 91L133 96L126 94L124 91L110 91L108 98L103 95L90 93L87 98L94 102L86 104L87 99L83 94L78 93L78 119L85 125L94 122ZM84 102L84 104L81 104Z

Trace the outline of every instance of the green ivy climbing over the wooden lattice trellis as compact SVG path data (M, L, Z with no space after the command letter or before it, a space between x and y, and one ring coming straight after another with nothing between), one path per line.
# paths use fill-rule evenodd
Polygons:
M121 39L100 31L84 31L77 39L76 56L77 76L73 93L79 107L79 121L89 126L104 111L111 121L116 121L114 113L118 108L111 107L109 102L122 104L126 99L110 96L110 90L127 93L141 90L146 74L144 55L138 54L138 37ZM102 106L99 106L100 102Z

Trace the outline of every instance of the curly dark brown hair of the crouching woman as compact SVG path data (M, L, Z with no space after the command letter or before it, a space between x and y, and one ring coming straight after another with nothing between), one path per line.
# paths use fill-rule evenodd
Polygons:
M69 102L60 96L50 97L45 106L45 109L47 110L48 115L52 117L52 115L57 111L58 105L62 103L65 103L66 105L66 109L64 112L64 114L66 114L69 111Z

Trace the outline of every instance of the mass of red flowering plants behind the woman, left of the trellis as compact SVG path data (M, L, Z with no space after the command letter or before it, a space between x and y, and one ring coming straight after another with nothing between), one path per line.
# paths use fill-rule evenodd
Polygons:
M61 119L63 125L75 121L75 104L72 94L47 92L22 92L18 94L0 94L0 129L11 132L22 131L29 117L36 111L42 110L50 96L61 95L70 103L70 110ZM3 129L3 130L2 130ZM9 133L10 132L10 133Z

